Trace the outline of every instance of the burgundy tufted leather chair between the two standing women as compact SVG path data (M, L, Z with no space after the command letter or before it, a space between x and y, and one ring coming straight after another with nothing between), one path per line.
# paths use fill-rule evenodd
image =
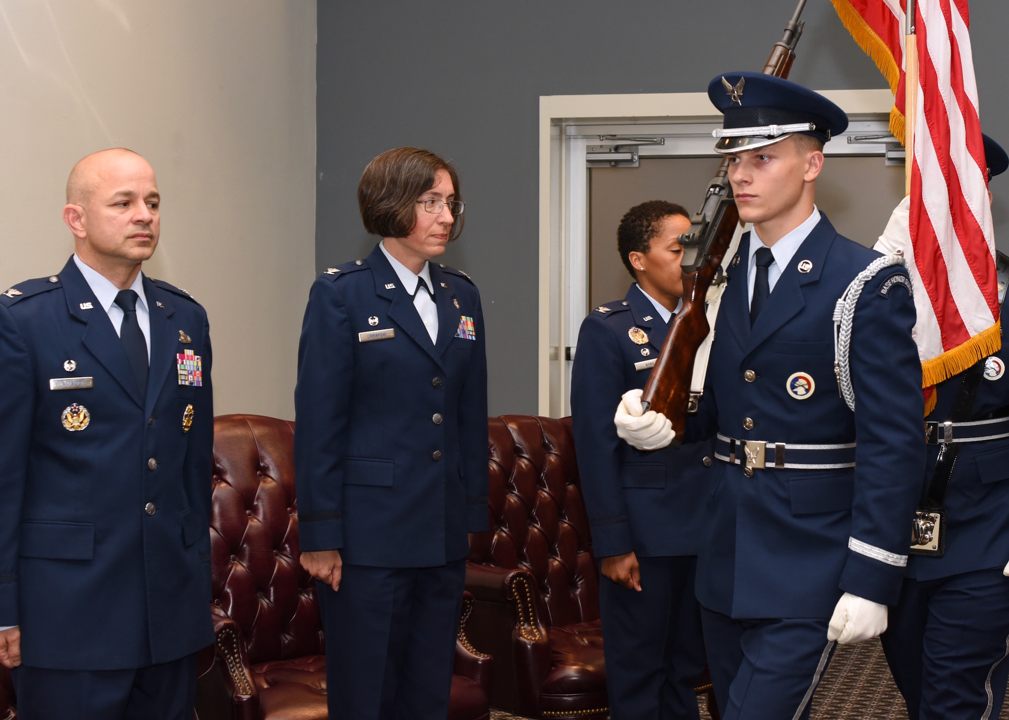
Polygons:
M605 715L599 585L569 417L490 418L490 529L473 535L466 632L493 654L490 704L532 718ZM710 680L697 693L717 719Z

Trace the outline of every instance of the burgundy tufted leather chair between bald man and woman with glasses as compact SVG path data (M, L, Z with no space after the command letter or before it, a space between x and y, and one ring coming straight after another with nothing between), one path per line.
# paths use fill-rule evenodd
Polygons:
M216 667L236 719L327 717L315 581L298 561L293 455L294 423L248 414L215 418L211 611ZM472 597L464 597L449 720L489 718L491 659L465 634L472 605Z

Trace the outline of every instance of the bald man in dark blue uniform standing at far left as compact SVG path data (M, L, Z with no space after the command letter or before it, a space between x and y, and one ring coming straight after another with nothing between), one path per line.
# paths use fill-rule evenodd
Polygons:
M207 314L141 271L140 155L71 172L59 274L0 293L0 663L21 720L191 720L210 600Z

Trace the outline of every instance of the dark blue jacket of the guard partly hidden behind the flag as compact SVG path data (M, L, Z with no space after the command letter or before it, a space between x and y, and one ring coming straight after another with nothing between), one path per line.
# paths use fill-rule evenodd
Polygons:
M1007 305L1003 299L1003 324ZM1006 372L1009 348L1005 346L1004 331L1002 343L1002 349L986 363L972 419L1009 415L1009 373ZM935 408L925 419L943 423L951 417L962 379L963 374L955 375L936 385ZM996 434L1004 432L1005 426L993 431ZM941 446L927 447L922 494L931 481ZM907 566L910 577L935 580L975 570L1004 568L1009 563L1009 438L961 445L943 507L945 553L941 558L911 556Z

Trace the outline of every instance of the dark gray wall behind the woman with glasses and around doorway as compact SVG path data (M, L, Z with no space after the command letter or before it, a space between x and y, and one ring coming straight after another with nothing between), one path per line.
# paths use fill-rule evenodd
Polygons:
M793 0L320 2L316 266L360 257L357 181L368 160L419 145L453 160L466 231L446 262L480 287L490 412L537 410L539 96L703 91L759 70ZM1003 3L973 3L986 131L1009 146ZM792 80L885 88L827 0L810 0ZM1009 240L1009 182L993 184ZM1006 243L1000 243L1005 247Z

